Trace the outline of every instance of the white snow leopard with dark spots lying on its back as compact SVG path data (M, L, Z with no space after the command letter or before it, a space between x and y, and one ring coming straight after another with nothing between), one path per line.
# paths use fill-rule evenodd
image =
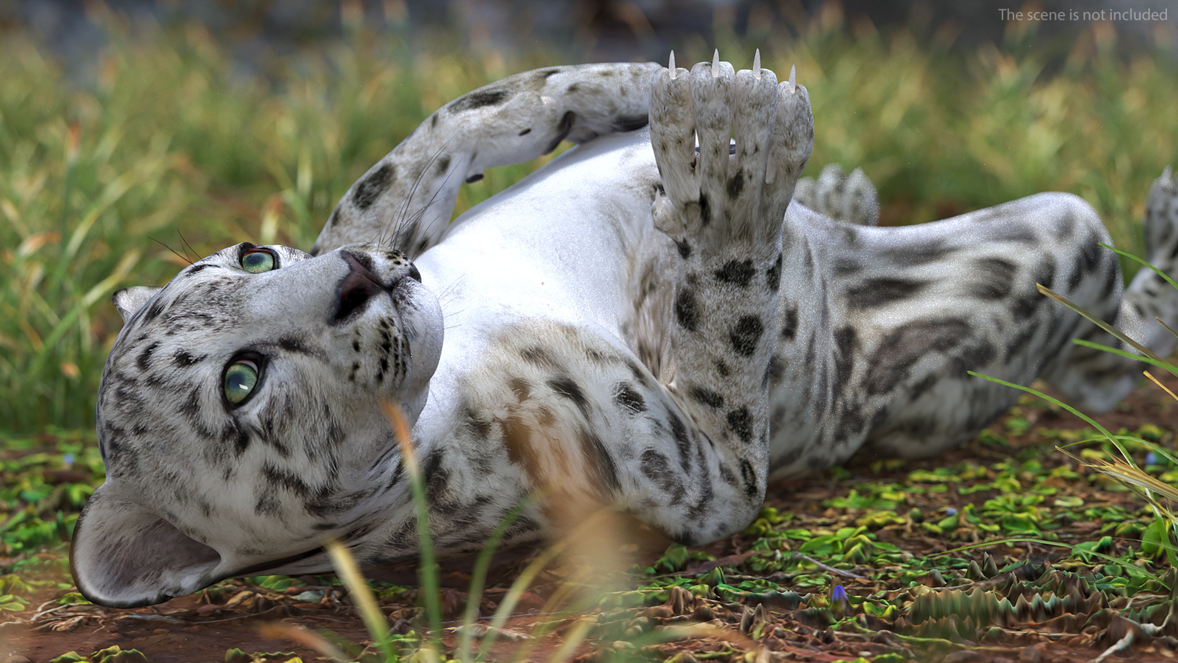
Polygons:
M812 137L806 88L759 67L527 72L431 116L311 254L240 244L117 293L78 586L131 606L324 571L326 538L365 565L413 558L389 402L413 424L443 554L481 550L528 495L509 544L598 506L695 544L742 529L773 477L974 435L1017 394L968 369L1114 403L1137 363L1073 347L1105 339L1037 282L1173 348L1149 321L1178 323L1178 296L1152 273L1123 291L1079 198L841 223L789 204ZM585 144L444 224L461 180L565 138ZM852 179L815 199L869 222L874 190ZM1167 172L1145 225L1167 273L1176 201ZM243 268L257 250L274 269ZM243 357L260 380L231 403Z

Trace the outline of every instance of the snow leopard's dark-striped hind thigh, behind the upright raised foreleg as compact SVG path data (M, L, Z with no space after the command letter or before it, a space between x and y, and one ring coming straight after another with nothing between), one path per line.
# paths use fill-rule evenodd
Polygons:
M1076 196L1040 193L906 228L794 214L822 244L830 310L825 324L787 320L770 416L775 477L865 446L915 458L975 435L1019 393L968 370L1028 385L1087 329L1035 283L1097 315L1117 313L1119 263L1097 245L1107 231Z

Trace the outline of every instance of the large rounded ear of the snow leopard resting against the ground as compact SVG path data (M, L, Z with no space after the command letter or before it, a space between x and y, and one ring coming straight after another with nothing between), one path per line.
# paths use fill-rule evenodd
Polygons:
M220 580L220 554L138 501L102 484L86 501L70 544L70 571L93 603L139 608Z

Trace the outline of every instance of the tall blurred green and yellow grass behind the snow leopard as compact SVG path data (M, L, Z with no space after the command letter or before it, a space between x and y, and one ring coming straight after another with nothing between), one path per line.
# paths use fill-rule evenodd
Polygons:
M176 252L245 239L307 248L355 178L428 113L568 60L555 50L469 53L445 37L423 52L392 32L352 34L251 74L198 26L133 31L98 18L111 46L86 85L71 86L28 38L0 40L0 428L9 432L93 425L121 326L114 289L163 284L184 264ZM810 175L829 162L862 166L885 223L1063 190L1097 208L1117 245L1141 252L1145 191L1178 153L1172 52L1124 58L1099 26L1064 54L1014 27L1001 48L949 52L942 33L881 34L832 7L798 39L780 28L754 22L737 39L721 25L717 45L739 66L754 47L779 71L798 65L818 118ZM681 60L710 54L696 41ZM495 169L464 188L459 210L531 168Z

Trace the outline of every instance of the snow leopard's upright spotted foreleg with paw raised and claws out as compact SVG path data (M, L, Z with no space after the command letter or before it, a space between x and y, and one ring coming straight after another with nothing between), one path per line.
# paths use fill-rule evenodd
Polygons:
M782 249L803 244L783 237L783 219L814 137L806 88L793 78L777 85L757 64L734 73L717 53L651 83L650 140L664 189L654 221L681 258L668 329L675 368L663 379L715 449L720 478L737 479L727 481L736 487L730 527L765 495Z

